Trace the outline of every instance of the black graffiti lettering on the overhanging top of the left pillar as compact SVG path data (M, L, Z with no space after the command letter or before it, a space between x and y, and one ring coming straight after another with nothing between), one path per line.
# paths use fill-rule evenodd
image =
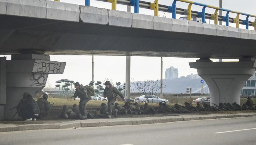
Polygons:
M36 61L34 63L34 69L35 69L35 72L59 74L59 73L61 73L61 63L60 62L51 62L51 61L43 61L43 62Z

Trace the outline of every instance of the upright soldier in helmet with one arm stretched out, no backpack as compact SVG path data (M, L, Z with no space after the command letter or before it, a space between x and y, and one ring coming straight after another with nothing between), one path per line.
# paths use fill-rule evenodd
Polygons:
M107 97L107 107L109 115L112 114L112 106L115 104L115 99L117 98L117 95L120 96L123 100L125 100L125 97L123 94L117 90L116 87L112 86L110 81L105 82L106 88L104 89L103 95L104 98Z

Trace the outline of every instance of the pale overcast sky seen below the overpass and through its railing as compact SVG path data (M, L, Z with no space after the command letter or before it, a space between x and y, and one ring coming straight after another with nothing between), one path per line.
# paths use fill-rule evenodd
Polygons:
M60 0L61 2L74 3L78 5L84 5L85 0ZM154 3L154 0L144 0ZM222 0L222 7L234 11L240 11L243 13L249 13L256 15L255 0ZM173 0L159 0L159 4L171 6ZM218 6L219 0L194 0L194 2L204 3L207 5ZM111 9L111 3L100 2L91 0L91 6ZM187 9L188 4L183 2L177 2L176 7ZM127 11L127 6L117 5L117 10ZM192 5L191 10L202 11L201 6ZM206 8L206 13L214 14L214 9ZM134 8L131 7L131 12L134 12ZM154 15L154 10L139 8L140 14ZM164 13L159 11L159 15L163 17ZM226 12L222 12L222 15L226 15ZM230 13L229 17L235 18L237 14ZM171 13L165 13L167 18L171 18ZM183 15L176 15L176 18ZM240 19L246 18L246 16L240 15ZM254 21L254 18L249 17L249 21ZM209 23L209 19L206 20ZM214 20L210 23L214 24ZM225 25L225 22L222 22ZM230 26L236 27L234 23L229 23ZM245 25L239 26L245 29ZM249 26L249 29L254 30ZM8 56L7 59L10 59ZM114 79L117 82L125 81L125 56L94 56L94 80L102 81L105 78ZM163 58L163 78L165 78L165 70L170 66L178 68L179 77L187 76L190 73L196 74L196 69L189 67L189 62L195 62L197 59L193 58ZM214 62L218 59L212 59ZM80 82L80 84L88 84L91 81L91 62L92 56L59 56L51 55L51 61L66 62L64 74L50 74L48 82L51 85L55 85L56 80L69 79ZM149 78L160 79L160 61L159 57L131 57L131 78L134 80L146 80ZM223 61L238 61L232 59L224 59ZM198 82L200 83L200 82Z

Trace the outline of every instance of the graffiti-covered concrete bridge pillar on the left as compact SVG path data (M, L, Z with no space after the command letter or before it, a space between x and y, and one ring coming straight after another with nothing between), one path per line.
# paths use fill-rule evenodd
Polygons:
M6 85L6 103L4 108L0 108L0 112L4 110L4 119L16 119L17 115L12 118L16 110L9 109L19 103L23 93L29 92L34 97L45 87L48 75L62 74L65 66L65 62L50 61L48 55L11 55L11 60L6 61L6 84L1 84ZM0 119L3 120L3 117Z

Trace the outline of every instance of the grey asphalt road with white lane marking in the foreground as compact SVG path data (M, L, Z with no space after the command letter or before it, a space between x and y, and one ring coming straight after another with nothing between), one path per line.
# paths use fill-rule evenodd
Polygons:
M1 145L256 145L256 117L0 133Z

